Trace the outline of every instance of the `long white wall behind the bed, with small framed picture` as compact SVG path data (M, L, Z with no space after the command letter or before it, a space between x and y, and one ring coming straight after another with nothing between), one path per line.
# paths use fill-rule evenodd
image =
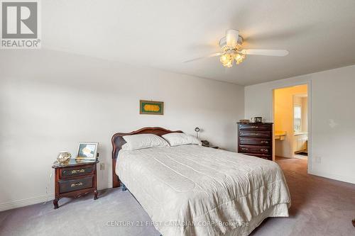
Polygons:
M236 150L242 86L49 50L3 50L0 61L0 210L50 200L52 163L82 141L99 142L99 189L111 187L116 132L198 126L200 138ZM164 116L140 115L139 99L164 101Z

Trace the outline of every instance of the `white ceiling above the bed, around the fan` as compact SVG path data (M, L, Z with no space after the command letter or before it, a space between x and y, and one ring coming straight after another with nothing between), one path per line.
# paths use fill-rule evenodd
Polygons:
M56 0L42 2L43 47L235 84L258 84L355 64L354 0ZM244 48L286 49L224 68L227 28Z

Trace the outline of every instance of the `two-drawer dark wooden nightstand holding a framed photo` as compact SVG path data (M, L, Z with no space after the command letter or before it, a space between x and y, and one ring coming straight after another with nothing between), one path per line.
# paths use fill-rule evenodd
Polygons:
M57 209L60 198L79 198L87 193L94 193L97 199L96 161L70 159L68 164L55 164L55 198L54 208Z

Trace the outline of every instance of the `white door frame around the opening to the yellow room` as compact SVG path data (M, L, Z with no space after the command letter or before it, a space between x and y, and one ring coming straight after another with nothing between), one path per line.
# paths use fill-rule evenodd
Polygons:
M312 81L294 82L283 84L282 86L273 86L271 89L271 120L275 123L275 89L285 89L291 86L307 85L307 135L308 135L308 157L307 157L307 173L312 171ZM275 133L275 125L273 125L273 133ZM293 135L293 134L292 134ZM293 152L293 143L291 144L291 152ZM273 137L273 160L275 160L275 137Z

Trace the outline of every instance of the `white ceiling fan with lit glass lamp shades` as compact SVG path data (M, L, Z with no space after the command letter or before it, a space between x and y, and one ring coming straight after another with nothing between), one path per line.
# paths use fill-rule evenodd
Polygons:
M185 62L193 62L209 57L218 57L224 67L232 67L234 60L236 64L240 64L246 58L246 55L276 56L284 57L288 55L288 50L266 50L266 49L241 49L243 38L239 35L239 30L226 30L226 37L219 40L219 47L223 52L217 52L204 57L197 57Z

